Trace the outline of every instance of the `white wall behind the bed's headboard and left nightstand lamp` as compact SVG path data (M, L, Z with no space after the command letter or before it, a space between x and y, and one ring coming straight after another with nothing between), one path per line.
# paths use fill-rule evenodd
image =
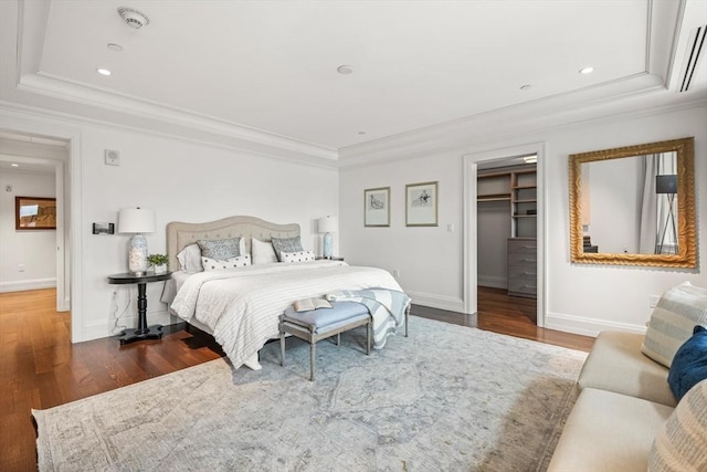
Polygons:
M170 221L204 222L234 214L299 223L303 244L320 253L316 219L338 213L334 167L15 111L4 111L2 118L3 128L67 137L75 147L68 166L75 200L71 224L77 229L72 234L76 263L73 277L80 284L72 287L72 319L76 322L72 326L73 342L109 336L120 326L136 326L136 287L106 281L110 274L127 271L130 235L92 234L93 222L117 223L122 208L139 206L156 211L157 231L147 234L152 253L166 252L166 225ZM120 151L119 167L104 164L104 149ZM150 324L178 321L159 303L161 287L161 283L148 284ZM112 301L114 290L118 292L117 304ZM117 323L115 314L123 315Z

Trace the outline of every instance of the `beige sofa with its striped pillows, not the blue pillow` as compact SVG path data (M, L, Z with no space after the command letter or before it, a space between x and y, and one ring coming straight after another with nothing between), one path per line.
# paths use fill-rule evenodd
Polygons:
M707 379L679 405L667 381L695 325L707 326L707 289L684 282L661 296L645 335L600 333L548 470L707 471Z

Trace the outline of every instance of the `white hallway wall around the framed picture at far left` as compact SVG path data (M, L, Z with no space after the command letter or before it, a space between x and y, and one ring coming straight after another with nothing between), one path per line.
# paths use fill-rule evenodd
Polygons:
M0 292L56 285L56 230L18 231L14 227L15 197L53 198L55 188L53 174L0 172Z

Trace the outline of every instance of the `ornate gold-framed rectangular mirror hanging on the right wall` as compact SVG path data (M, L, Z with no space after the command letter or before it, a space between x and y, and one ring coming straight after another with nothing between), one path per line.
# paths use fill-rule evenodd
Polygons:
M695 268L694 138L569 156L572 263Z

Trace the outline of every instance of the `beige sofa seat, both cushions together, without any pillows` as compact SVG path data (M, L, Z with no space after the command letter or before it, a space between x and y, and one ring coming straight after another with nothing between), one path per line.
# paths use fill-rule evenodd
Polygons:
M668 369L641 353L643 335L602 332L548 471L642 471L676 406Z

